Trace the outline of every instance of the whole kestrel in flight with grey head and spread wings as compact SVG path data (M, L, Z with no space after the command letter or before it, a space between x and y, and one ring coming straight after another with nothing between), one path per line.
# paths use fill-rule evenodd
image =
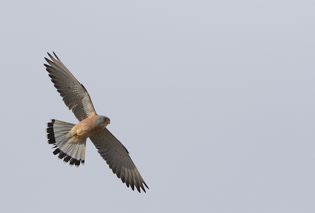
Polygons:
M139 192L140 188L146 192L143 184L146 188L148 186L132 162L128 150L107 130L109 118L96 114L85 87L77 81L55 53L55 58L49 53L48 55L51 60L45 59L49 65L44 64L49 72L48 76L66 106L79 120L77 124L55 119L46 123L48 143L56 148L53 154L58 154L58 158L63 159L64 163L69 162L70 166L79 167L80 163L84 165L85 144L89 137L109 168L128 188L130 185L132 190L136 187Z

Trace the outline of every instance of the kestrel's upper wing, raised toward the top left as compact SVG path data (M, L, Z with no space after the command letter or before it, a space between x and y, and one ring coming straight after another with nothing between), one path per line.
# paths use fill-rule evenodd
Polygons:
M47 64L44 65L49 72L49 77L54 83L54 87L57 88L69 110L72 109L73 114L79 121L84 120L89 115L96 115L88 91L77 81L65 65L62 64L55 53L54 56L56 59L49 53L48 55L51 61L47 58L45 59L50 66Z

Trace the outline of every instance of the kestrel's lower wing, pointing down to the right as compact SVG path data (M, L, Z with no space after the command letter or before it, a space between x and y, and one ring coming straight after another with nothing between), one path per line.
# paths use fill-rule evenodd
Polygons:
M129 152L112 133L105 129L103 132L92 135L90 139L98 149L100 156L106 160L109 168L123 183L126 183L127 187L130 185L132 190L135 190L136 187L139 192L141 187L146 192L143 184L146 188L148 186L132 162Z

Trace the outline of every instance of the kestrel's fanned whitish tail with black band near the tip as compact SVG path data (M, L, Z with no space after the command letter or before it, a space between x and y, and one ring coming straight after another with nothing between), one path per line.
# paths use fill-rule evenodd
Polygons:
M46 125L48 127L46 128L48 143L53 144L53 148L57 148L53 154L59 154L58 158L64 159L64 163L70 161L70 166L79 167L80 163L84 165L86 140L69 142L72 136L69 136L68 133L75 124L50 119Z

